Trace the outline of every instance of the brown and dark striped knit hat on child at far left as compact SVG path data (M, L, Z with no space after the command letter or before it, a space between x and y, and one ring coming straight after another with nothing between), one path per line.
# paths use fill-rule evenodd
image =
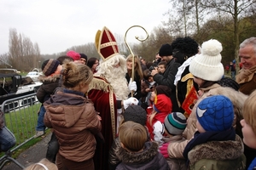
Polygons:
M60 65L60 62L57 59L44 60L42 64L42 71L46 77L49 77L51 74L53 74L57 70L59 65Z

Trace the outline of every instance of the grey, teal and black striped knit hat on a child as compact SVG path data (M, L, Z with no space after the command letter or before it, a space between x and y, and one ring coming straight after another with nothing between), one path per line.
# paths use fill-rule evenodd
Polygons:
M187 126L186 117L180 112L172 112L164 122L166 132L172 135L182 134Z

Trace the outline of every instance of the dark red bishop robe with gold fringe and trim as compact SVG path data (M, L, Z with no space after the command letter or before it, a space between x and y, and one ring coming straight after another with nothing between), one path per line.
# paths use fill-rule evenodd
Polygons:
M113 88L102 77L94 77L90 82L88 98L94 103L96 111L102 117L102 135L104 144L97 141L94 156L95 169L108 170L108 151L116 137L117 105Z

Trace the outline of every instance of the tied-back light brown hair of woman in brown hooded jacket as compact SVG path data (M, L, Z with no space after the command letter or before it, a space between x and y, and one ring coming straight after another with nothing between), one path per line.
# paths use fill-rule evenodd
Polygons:
M89 84L93 73L87 65L69 62L63 65L62 81L66 88L74 88L83 82Z

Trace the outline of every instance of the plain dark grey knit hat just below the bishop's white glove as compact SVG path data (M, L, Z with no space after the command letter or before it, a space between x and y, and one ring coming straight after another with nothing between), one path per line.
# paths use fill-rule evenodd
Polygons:
M147 122L147 112L140 105L129 105L125 109L123 116L124 122L137 122L143 126L145 126Z

